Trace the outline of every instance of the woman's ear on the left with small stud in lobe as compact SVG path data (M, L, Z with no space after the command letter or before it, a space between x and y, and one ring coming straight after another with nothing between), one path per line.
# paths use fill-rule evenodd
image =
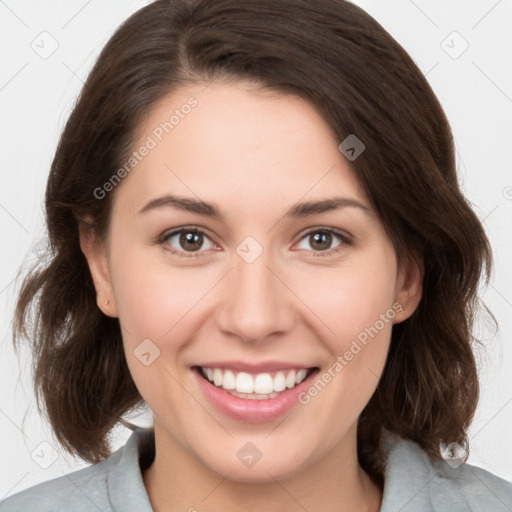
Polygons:
M118 316L114 298L105 243L98 240L90 224L79 222L80 248L87 259L94 288L96 303L103 313L112 318Z

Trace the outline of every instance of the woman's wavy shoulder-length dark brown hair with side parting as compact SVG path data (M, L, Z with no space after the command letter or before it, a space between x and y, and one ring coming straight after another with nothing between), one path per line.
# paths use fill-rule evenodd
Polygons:
M14 326L15 345L21 335L30 341L38 407L57 439L100 461L109 432L142 402L119 322L96 305L78 220L92 219L105 235L114 193L100 200L93 191L126 161L152 106L181 85L225 77L306 98L340 142L363 141L352 163L360 183L397 255L414 249L422 258L422 300L394 326L359 419L361 465L382 482L383 429L437 458L440 443L466 447L478 400L476 292L484 268L489 279L491 250L459 189L450 127L426 79L371 16L343 0L158 0L101 52L51 165L50 259L25 278Z

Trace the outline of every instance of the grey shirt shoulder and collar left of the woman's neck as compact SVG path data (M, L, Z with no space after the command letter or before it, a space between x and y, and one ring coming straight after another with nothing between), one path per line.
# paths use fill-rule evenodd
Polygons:
M117 512L130 504L151 512L139 467L150 441L150 431L139 429L108 459L16 493L0 502L0 512Z

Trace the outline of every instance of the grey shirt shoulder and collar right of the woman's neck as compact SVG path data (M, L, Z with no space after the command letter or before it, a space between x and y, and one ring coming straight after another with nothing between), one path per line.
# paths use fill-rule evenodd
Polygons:
M470 464L433 460L417 444L388 434L381 512L512 510L512 483Z

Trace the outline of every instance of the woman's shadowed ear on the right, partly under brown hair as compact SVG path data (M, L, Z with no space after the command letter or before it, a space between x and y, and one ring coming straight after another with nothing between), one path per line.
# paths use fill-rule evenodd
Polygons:
M403 322L409 318L420 303L423 293L423 277L425 269L422 258L415 251L409 253L402 261L396 280L395 302L397 306L394 324Z

